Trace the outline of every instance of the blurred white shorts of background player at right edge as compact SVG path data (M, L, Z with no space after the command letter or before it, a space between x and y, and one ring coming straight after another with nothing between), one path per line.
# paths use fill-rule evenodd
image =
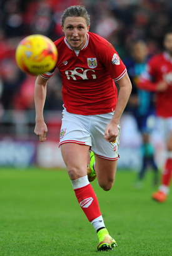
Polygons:
M169 136L171 136L172 132L172 117L163 118L158 117L159 127L161 129L162 135L165 141L168 141Z

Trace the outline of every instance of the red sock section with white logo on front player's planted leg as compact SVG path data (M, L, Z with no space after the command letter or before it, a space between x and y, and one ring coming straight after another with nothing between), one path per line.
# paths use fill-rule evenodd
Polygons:
M78 199L79 205L90 222L101 215L98 199L91 184L74 189L74 193Z

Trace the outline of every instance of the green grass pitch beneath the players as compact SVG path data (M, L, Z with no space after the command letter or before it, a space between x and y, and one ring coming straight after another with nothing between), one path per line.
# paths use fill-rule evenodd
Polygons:
M0 255L172 255L172 195L151 200L151 173L136 191L136 174L118 171L111 191L91 183L106 228L118 243L97 252L98 237L74 196L67 172L0 169Z

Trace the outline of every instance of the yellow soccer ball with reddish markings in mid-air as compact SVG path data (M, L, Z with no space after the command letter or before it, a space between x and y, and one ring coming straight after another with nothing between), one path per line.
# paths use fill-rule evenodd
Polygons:
M58 60L58 50L48 37L26 36L16 48L19 68L31 75L39 75L53 70Z

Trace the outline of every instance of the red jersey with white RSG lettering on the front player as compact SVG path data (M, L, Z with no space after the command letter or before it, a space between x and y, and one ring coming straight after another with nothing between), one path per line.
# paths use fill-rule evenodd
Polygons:
M114 81L123 77L126 67L111 43L94 33L87 33L86 44L80 51L74 51L65 36L54 43L66 110L80 115L114 111L118 97ZM41 77L51 75L53 72Z

